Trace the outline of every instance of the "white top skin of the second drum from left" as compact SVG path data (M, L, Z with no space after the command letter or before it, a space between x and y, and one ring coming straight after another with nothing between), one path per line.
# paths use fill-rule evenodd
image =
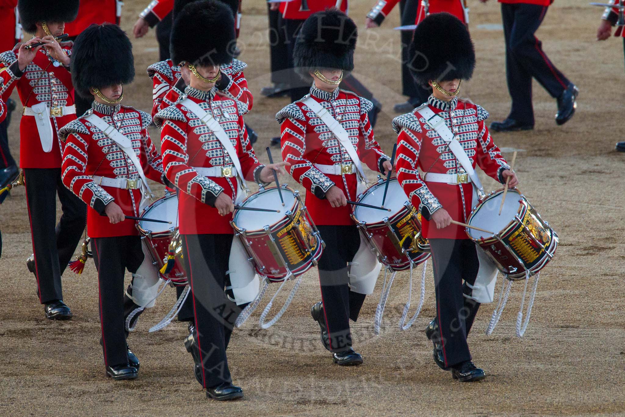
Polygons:
M258 230L264 226L271 226L284 218L284 213L293 208L295 204L295 196L292 191L282 188L282 198L284 198L284 206L280 202L280 196L277 188L267 189L259 193L252 194L244 201L241 206L251 208L264 208L271 210L279 210L280 213L269 213L267 211L249 211L237 210L234 214L234 224L239 229Z

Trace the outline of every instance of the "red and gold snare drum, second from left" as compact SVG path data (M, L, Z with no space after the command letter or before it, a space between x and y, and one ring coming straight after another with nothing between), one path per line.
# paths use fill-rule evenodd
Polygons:
M261 188L240 205L280 210L235 210L231 225L243 243L254 268L270 281L283 281L317 264L324 243L310 218L299 191L281 186L284 206L276 187Z

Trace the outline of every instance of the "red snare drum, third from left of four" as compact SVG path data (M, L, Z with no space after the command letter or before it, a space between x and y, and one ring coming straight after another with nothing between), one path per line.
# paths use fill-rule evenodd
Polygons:
M386 181L379 179L358 198L358 203L381 206ZM377 252L379 261L393 271L416 266L430 257L421 238L421 214L412 207L396 178L391 179L384 207L391 211L354 206L351 218Z

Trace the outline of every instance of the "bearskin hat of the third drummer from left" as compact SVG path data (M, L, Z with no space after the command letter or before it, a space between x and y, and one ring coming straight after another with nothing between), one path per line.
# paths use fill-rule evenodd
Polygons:
M356 24L337 9L311 14L304 21L293 49L293 63L301 78L317 68L354 69Z

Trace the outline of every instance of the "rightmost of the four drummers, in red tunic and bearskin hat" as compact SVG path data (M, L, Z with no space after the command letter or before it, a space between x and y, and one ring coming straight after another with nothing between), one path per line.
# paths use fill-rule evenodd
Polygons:
M466 223L471 213L476 164L499 183L511 177L509 186L514 187L518 181L486 128L487 111L457 97L461 81L471 78L475 66L466 26L451 14L431 14L415 29L410 53L412 75L429 85L432 95L426 104L395 118L393 128L399 134L397 179L421 212L421 233L429 239L434 261L437 318L426 335L441 369L451 369L459 381L478 381L486 374L471 361L467 334L479 303L464 295L471 295L479 260L464 228L451 221ZM417 168L426 174L421 176Z

